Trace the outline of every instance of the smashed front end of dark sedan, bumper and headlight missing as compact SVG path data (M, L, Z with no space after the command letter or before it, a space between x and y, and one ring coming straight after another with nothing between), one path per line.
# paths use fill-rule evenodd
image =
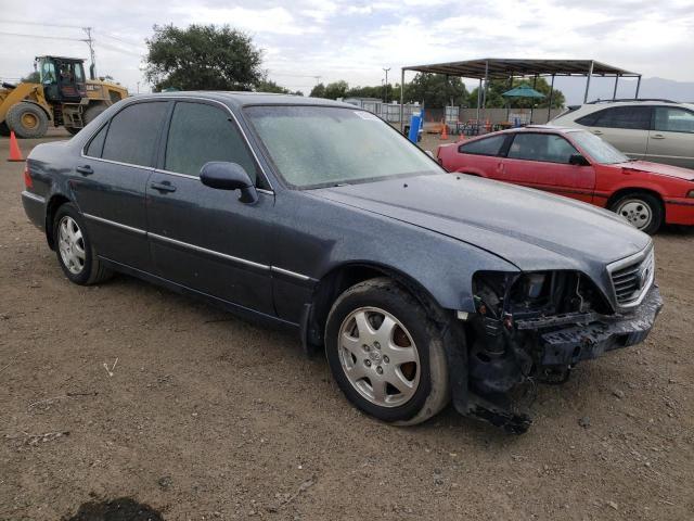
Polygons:
M642 342L663 306L652 274L638 305L617 312L578 271L479 271L473 290L468 393L455 405L514 433L531 423L536 383L564 383L578 361Z

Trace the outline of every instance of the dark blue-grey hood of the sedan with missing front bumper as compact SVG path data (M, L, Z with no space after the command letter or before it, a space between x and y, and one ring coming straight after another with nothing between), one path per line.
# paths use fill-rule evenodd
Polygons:
M473 176L427 175L312 190L486 250L523 270L578 269L640 252L651 239L605 209Z

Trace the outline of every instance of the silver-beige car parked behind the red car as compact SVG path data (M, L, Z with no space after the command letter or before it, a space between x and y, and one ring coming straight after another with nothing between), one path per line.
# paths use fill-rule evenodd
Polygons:
M569 106L551 125L586 128L634 160L694 168L694 104L666 100Z

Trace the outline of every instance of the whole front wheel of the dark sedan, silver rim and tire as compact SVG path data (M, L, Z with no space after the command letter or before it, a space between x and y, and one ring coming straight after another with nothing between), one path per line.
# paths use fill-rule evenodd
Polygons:
M444 339L424 308L387 278L345 291L325 327L331 371L347 398L383 421L416 424L449 399Z

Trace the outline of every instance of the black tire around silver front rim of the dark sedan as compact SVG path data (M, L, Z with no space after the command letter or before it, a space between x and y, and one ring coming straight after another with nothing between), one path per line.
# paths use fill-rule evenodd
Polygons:
M373 355L371 352L359 352L360 356L364 356L364 359L358 359L351 352L343 350L339 345L342 343L339 339L343 326L349 328L350 320L354 320L351 318L352 315L360 313L362 309L368 309L365 313L372 314L372 318L369 319L375 319L376 322L380 315L378 310L389 314L404 328L397 329L397 331L399 331L401 338L402 334L407 336L406 346L414 347L414 352L419 354L419 364L415 365L419 370L419 377L416 377L419 380L416 385L412 386L415 389L413 394L402 404L395 402L394 406L377 405L373 399L365 397L363 391L358 390L358 385L361 385L362 390L364 385L367 390L371 389L373 385L371 378L372 376L376 377L375 373L369 372L368 376L359 380L357 384L352 384L347 376L347 369L344 368L345 364L354 364L352 367L355 368L357 368L357 365L363 364L367 368L363 369L364 372L375 371L376 369L383 371L383 368L385 368L385 371L393 371L396 368L396 365L388 367L388 363L393 360L384 356L388 351L383 346L377 346L377 342L374 342L374 347L370 348L378 350L376 355ZM381 316L383 317L383 315ZM381 320L382 325L385 323L384 318L381 318ZM356 327L356 321L351 323L355 323ZM377 323L375 326L371 323L371 326L376 327ZM396 326L396 328L399 328L399 325ZM352 331L356 330L352 329ZM396 331L396 329L394 329L394 331ZM395 336L393 338L395 339ZM363 336L359 333L357 344L359 344L362 339ZM408 339L411 339L411 342ZM403 425L421 423L439 412L449 401L448 366L444 352L444 338L441 332L427 316L420 303L409 292L388 278L376 278L360 282L339 295L327 317L327 323L325 326L325 352L333 377L347 398L357 406L357 408L380 420ZM390 353L393 354L393 351L390 351ZM378 361L368 361L367 358L370 358L370 356L378 356ZM349 357L348 359L351 361L345 363L344 357ZM376 364L378 365L376 366ZM404 372L402 368L406 365L407 364L402 364L398 367L400 374ZM361 366L359 366L359 369L362 370ZM408 371L411 374L416 373L416 370L412 369L411 364L408 367ZM381 377L376 378L386 378L383 377L383 372L381 372ZM416 378L412 377L412 381L414 382ZM388 394L387 385L385 389L386 399L389 399L391 396L398 396L397 393L393 395ZM398 391L393 386L390 389ZM397 406L395 404L397 404Z

